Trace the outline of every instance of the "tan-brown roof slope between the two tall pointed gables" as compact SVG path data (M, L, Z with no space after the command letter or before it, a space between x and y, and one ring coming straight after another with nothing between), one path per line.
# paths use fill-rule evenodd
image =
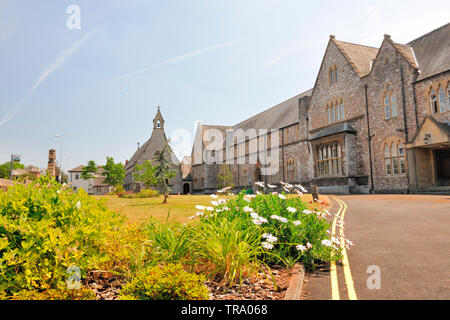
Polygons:
M334 36L330 38L359 77L362 78L370 73L371 63L378 54L378 48L338 41Z

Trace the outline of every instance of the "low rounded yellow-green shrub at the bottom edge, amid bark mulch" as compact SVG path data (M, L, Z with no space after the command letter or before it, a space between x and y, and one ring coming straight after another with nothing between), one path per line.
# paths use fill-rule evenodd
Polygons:
M120 291L122 300L208 300L204 278L179 264L153 266L138 272Z

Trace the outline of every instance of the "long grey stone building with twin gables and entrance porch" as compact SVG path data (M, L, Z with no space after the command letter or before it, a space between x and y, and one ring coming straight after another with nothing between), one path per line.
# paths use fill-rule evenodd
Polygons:
M385 35L379 48L330 36L311 90L235 126L199 125L194 192L214 192L224 165L238 190L260 180L325 193L450 192L449 74L450 24L407 44ZM267 173L272 151L277 170Z

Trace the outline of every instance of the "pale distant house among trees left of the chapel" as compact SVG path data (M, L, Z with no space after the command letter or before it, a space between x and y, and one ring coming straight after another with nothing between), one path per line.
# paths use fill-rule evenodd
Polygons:
M102 174L105 172L102 166L97 167L97 172L93 174L93 178L84 180L81 178L83 172L83 165L69 170L68 182L74 191L83 189L89 194L93 195L106 195L113 191L113 186L105 183L105 176Z

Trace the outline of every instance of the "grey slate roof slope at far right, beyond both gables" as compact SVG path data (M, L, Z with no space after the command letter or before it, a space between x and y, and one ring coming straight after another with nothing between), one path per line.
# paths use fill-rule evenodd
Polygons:
M414 49L422 80L450 70L450 23L408 43Z

